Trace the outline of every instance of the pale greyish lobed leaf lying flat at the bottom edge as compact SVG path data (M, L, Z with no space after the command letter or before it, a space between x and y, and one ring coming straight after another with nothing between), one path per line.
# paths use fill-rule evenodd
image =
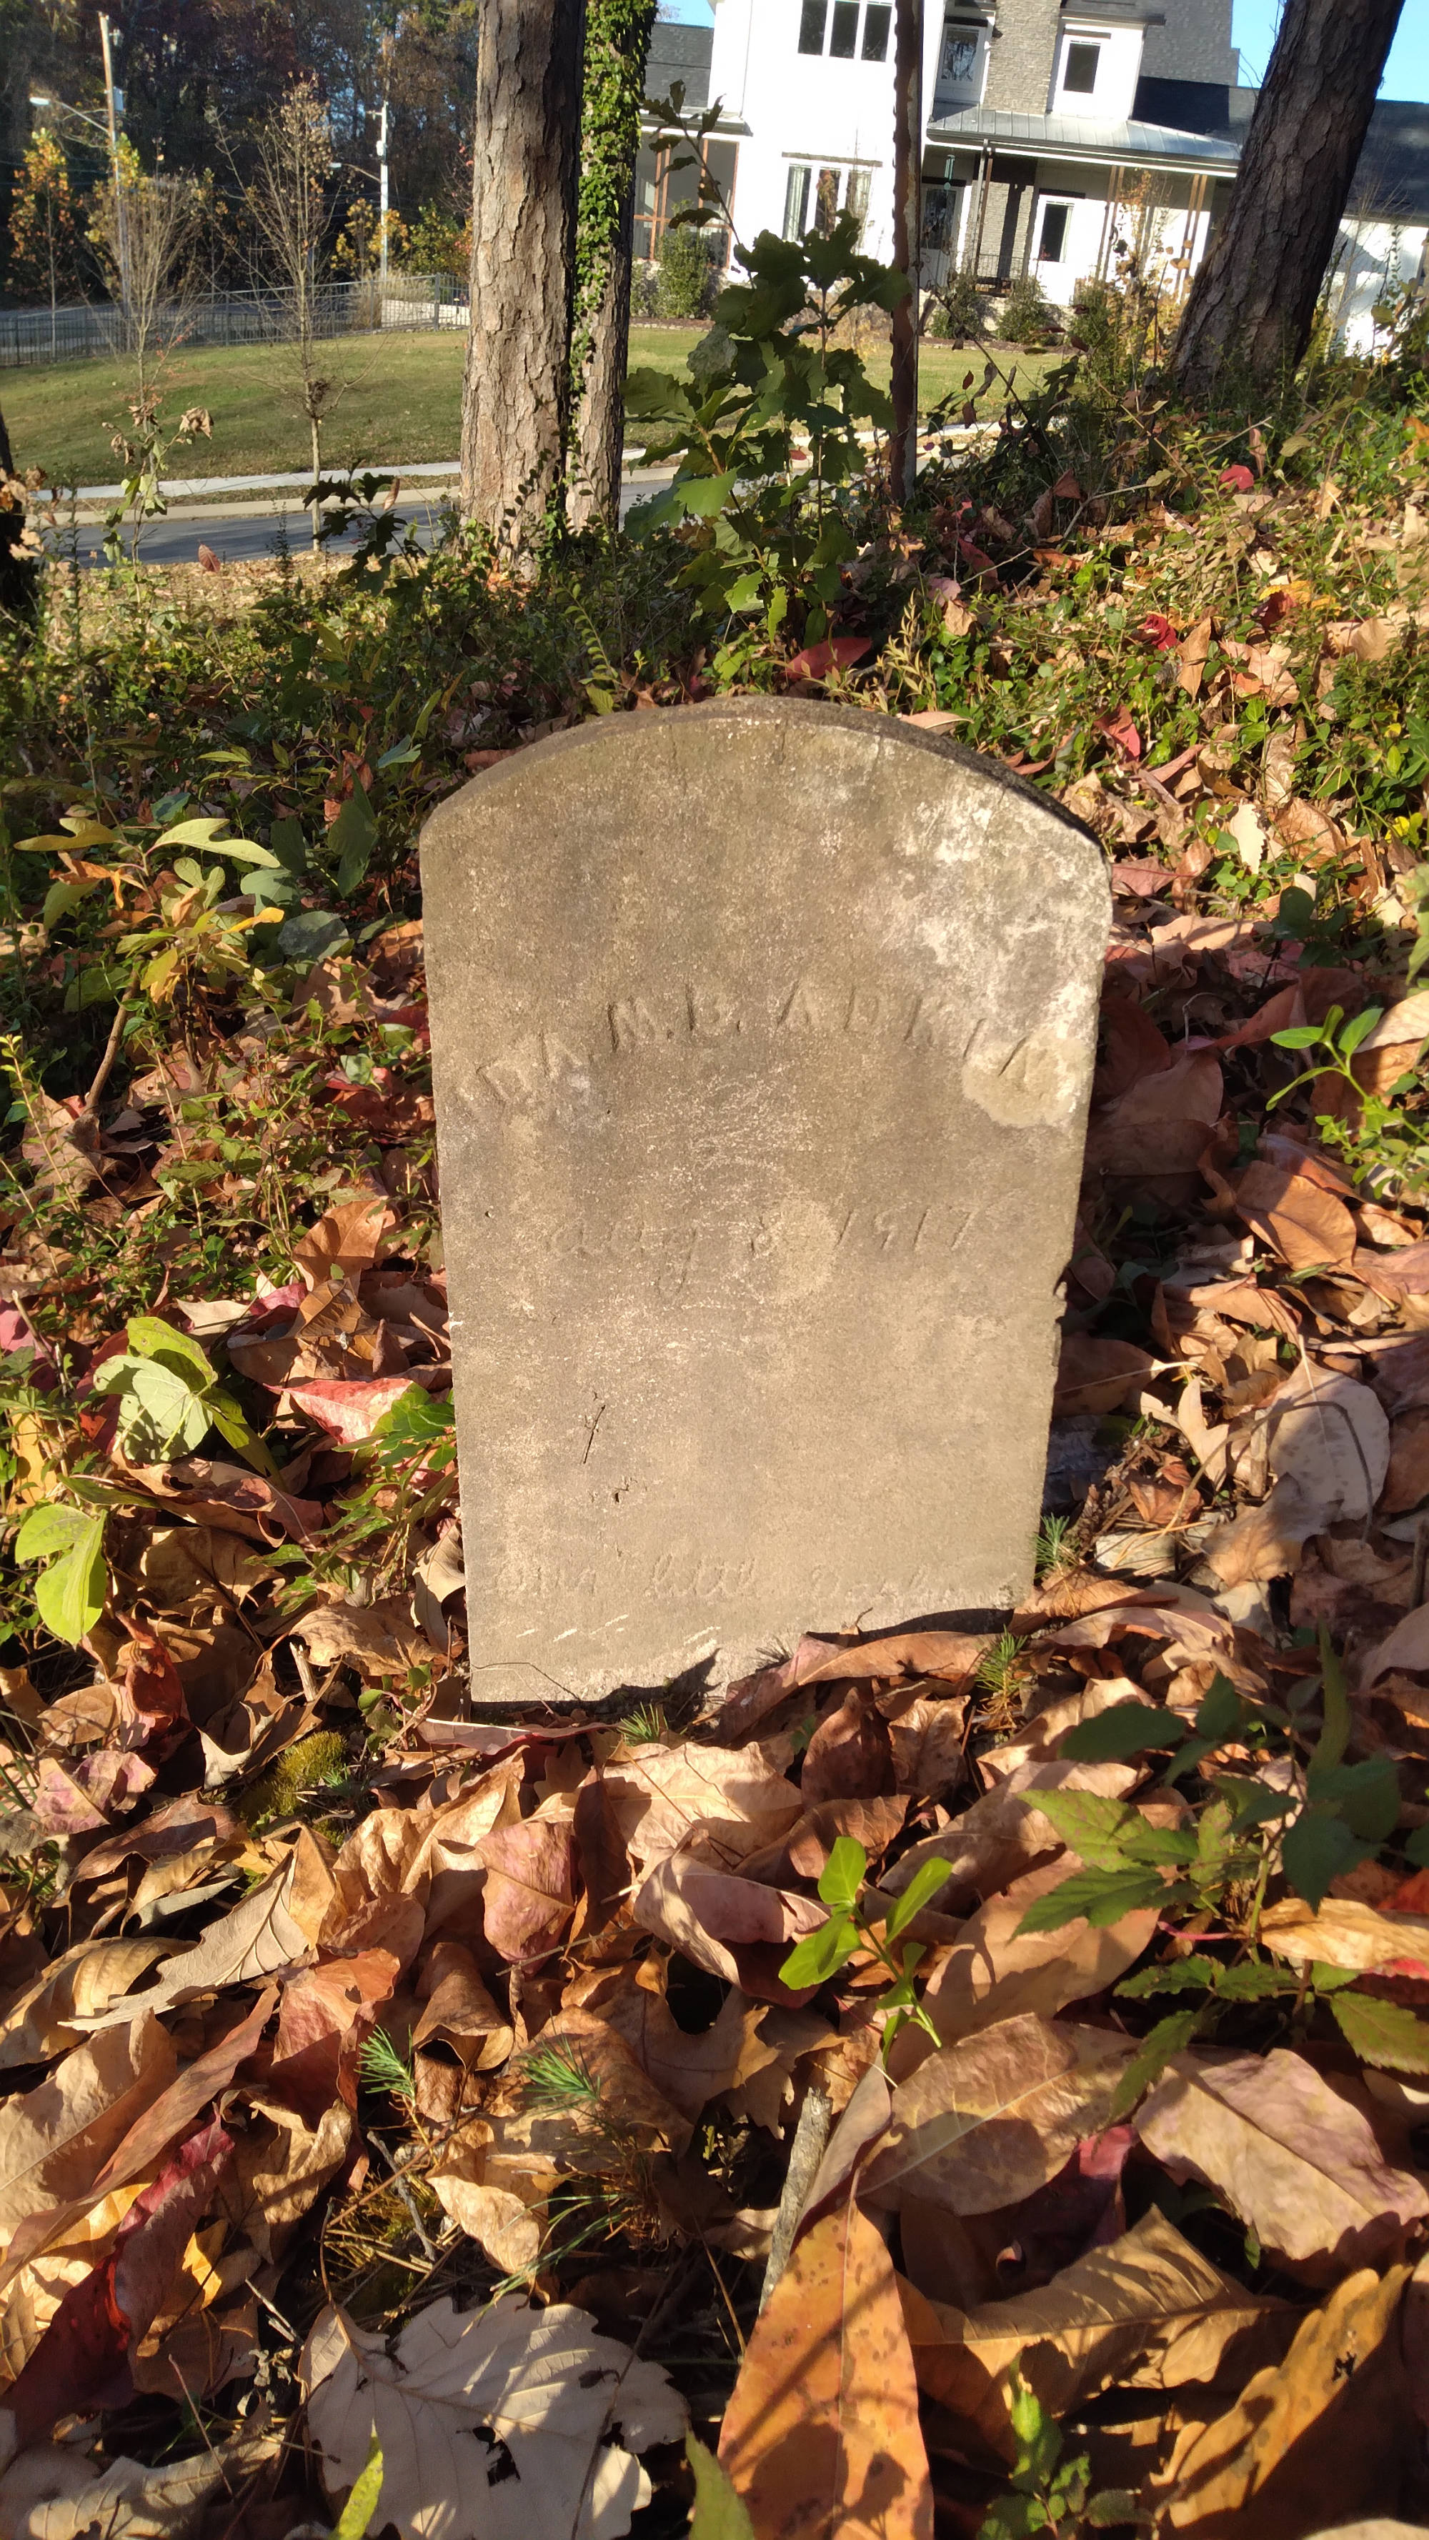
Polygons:
M617 2540L650 2502L635 2454L685 2433L665 2372L563 2301L536 2311L505 2296L467 2314L434 2301L391 2352L388 2339L322 2311L302 2383L327 2484L350 2487L376 2438L373 2527L393 2522L406 2540ZM490 2476L492 2441L515 2476Z

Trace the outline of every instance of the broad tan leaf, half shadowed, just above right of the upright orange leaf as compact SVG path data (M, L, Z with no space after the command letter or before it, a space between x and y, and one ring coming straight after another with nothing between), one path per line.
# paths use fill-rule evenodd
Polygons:
M1025 2014L942 2047L893 2090L891 2126L858 2192L987 2215L1020 2205L1112 2118L1132 2045Z

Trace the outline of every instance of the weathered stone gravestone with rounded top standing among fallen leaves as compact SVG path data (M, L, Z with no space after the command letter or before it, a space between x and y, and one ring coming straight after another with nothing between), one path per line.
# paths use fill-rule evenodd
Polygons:
M472 1694L1031 1585L1109 892L878 714L619 714L421 838Z

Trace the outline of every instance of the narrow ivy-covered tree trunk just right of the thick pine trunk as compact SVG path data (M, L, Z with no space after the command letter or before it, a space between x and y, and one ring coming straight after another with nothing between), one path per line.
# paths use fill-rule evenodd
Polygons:
M635 157L657 0L589 0L576 224L571 394L579 406L571 516L619 521Z

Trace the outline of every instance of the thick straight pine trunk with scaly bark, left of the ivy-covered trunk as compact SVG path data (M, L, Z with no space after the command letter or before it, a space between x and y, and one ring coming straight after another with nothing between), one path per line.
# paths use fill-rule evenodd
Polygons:
M472 140L462 513L541 523L571 429L584 0L485 0Z

